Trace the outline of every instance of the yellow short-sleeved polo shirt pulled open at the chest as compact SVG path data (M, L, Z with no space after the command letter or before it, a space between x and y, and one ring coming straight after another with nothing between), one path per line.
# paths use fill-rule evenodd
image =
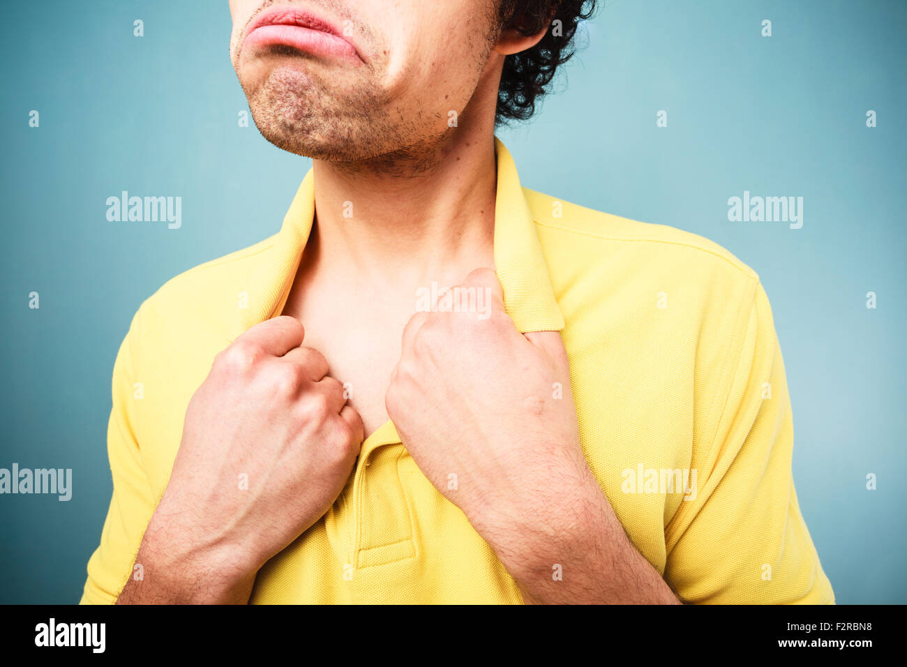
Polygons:
M756 273L686 231L522 188L494 142L507 312L523 332L561 331L583 451L633 544L690 603L834 603L797 505L785 367ZM113 367L113 496L83 603L114 602L132 575L214 356L283 309L313 178L276 235L180 274L132 319ZM250 602L522 598L387 422L327 515L258 573Z

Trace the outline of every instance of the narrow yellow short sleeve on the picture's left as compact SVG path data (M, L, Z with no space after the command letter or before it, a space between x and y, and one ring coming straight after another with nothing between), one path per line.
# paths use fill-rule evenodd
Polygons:
M136 434L134 352L141 308L113 364L112 410L107 427L107 455L113 495L98 545L88 562L82 604L115 603L132 574L142 535L156 505L141 465Z

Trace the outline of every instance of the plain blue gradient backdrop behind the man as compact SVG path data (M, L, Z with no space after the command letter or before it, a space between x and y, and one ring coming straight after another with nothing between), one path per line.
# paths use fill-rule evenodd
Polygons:
M226 2L5 8L0 467L71 467L74 489L68 503L0 496L0 602L78 601L132 314L180 271L277 231L310 165L238 126L229 31ZM907 601L905 34L904 2L618 0L580 34L560 94L499 132L523 185L694 231L760 274L797 493L839 603ZM181 229L106 221L122 190L181 196ZM803 229L727 221L744 190L804 197Z

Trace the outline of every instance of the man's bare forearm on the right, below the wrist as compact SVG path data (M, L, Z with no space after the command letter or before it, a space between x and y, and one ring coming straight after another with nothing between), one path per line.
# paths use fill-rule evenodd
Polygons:
M562 502L493 544L525 603L680 603L629 541L591 474Z

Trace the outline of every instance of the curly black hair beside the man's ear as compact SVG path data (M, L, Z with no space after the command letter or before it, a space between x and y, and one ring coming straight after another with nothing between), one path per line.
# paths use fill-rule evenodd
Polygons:
M549 92L555 71L574 54L577 25L592 15L595 3L596 0L500 0L499 29L511 28L529 36L538 34L549 21L551 25L538 44L504 59L495 126L510 120L525 121L535 113L535 103Z

